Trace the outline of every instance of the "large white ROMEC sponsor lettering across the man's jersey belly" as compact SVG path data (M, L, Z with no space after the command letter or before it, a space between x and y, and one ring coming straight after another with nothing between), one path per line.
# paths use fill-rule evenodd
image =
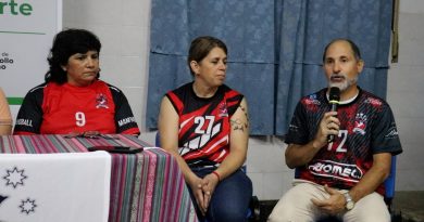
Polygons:
M308 169L315 175L337 178L349 182L358 182L363 177L363 172L358 166L331 160L320 160L308 166Z

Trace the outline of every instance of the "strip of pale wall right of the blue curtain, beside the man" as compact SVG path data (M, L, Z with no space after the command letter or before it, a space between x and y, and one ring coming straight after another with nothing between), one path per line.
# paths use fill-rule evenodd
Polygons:
M424 191L424 1L401 0L399 63L388 73L389 102L403 146L398 157L397 190Z

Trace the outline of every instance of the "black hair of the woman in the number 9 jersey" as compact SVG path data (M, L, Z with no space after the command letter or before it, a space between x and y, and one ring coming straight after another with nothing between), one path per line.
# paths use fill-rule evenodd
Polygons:
M47 57L49 70L45 76L46 82L63 84L67 81L66 71L62 66L67 64L71 55L97 51L100 53L101 43L97 36L85 29L66 29L55 35L53 47ZM97 78L99 78L99 74Z

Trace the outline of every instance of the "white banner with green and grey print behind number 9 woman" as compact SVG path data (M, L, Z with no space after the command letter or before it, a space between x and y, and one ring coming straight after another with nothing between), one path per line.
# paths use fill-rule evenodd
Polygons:
M20 105L29 89L43 82L47 56L61 29L62 0L0 0L0 87L11 105Z

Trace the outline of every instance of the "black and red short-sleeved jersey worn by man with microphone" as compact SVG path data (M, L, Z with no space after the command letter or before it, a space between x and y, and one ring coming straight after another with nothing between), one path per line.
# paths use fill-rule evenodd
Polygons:
M389 105L359 90L352 102L338 106L338 136L322 147L308 165L297 168L297 179L349 190L370 170L373 154L396 155L402 152ZM285 142L302 145L312 141L324 113L329 110L326 89L302 97L296 107ZM384 194L384 183L377 192Z

